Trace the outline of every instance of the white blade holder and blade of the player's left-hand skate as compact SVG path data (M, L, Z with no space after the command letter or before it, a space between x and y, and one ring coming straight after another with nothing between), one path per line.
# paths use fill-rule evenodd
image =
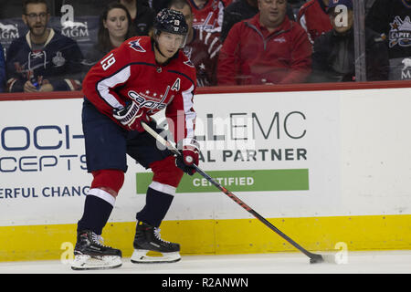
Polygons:
M118 255L76 255L71 263L73 270L101 270L116 268L122 265L121 257Z

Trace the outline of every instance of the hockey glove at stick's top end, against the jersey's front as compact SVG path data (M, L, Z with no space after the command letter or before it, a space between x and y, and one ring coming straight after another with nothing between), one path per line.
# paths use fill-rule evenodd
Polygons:
M134 101L121 110L113 110L112 116L128 130L138 130L139 132L144 131L142 121L146 123L150 121L150 117Z

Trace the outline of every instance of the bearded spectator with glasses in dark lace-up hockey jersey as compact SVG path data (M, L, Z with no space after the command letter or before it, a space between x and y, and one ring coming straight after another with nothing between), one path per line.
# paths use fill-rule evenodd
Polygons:
M7 50L7 90L35 92L80 89L82 54L75 41L47 28L45 0L26 0L23 21L26 36Z

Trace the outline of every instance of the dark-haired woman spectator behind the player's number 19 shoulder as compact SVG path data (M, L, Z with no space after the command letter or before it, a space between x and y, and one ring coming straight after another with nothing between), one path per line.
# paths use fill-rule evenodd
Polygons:
M111 49L120 47L122 42L132 36L134 26L127 8L116 2L107 5L100 16L98 42L86 55L88 69Z

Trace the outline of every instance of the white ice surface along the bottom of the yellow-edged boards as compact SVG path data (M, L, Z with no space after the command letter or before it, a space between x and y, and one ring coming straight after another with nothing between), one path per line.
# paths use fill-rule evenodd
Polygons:
M411 250L349 251L346 255L346 261L337 260L341 264L314 265L300 253L183 255L173 264L132 264L123 257L119 268L92 271L73 271L61 261L3 262L0 274L411 274Z

